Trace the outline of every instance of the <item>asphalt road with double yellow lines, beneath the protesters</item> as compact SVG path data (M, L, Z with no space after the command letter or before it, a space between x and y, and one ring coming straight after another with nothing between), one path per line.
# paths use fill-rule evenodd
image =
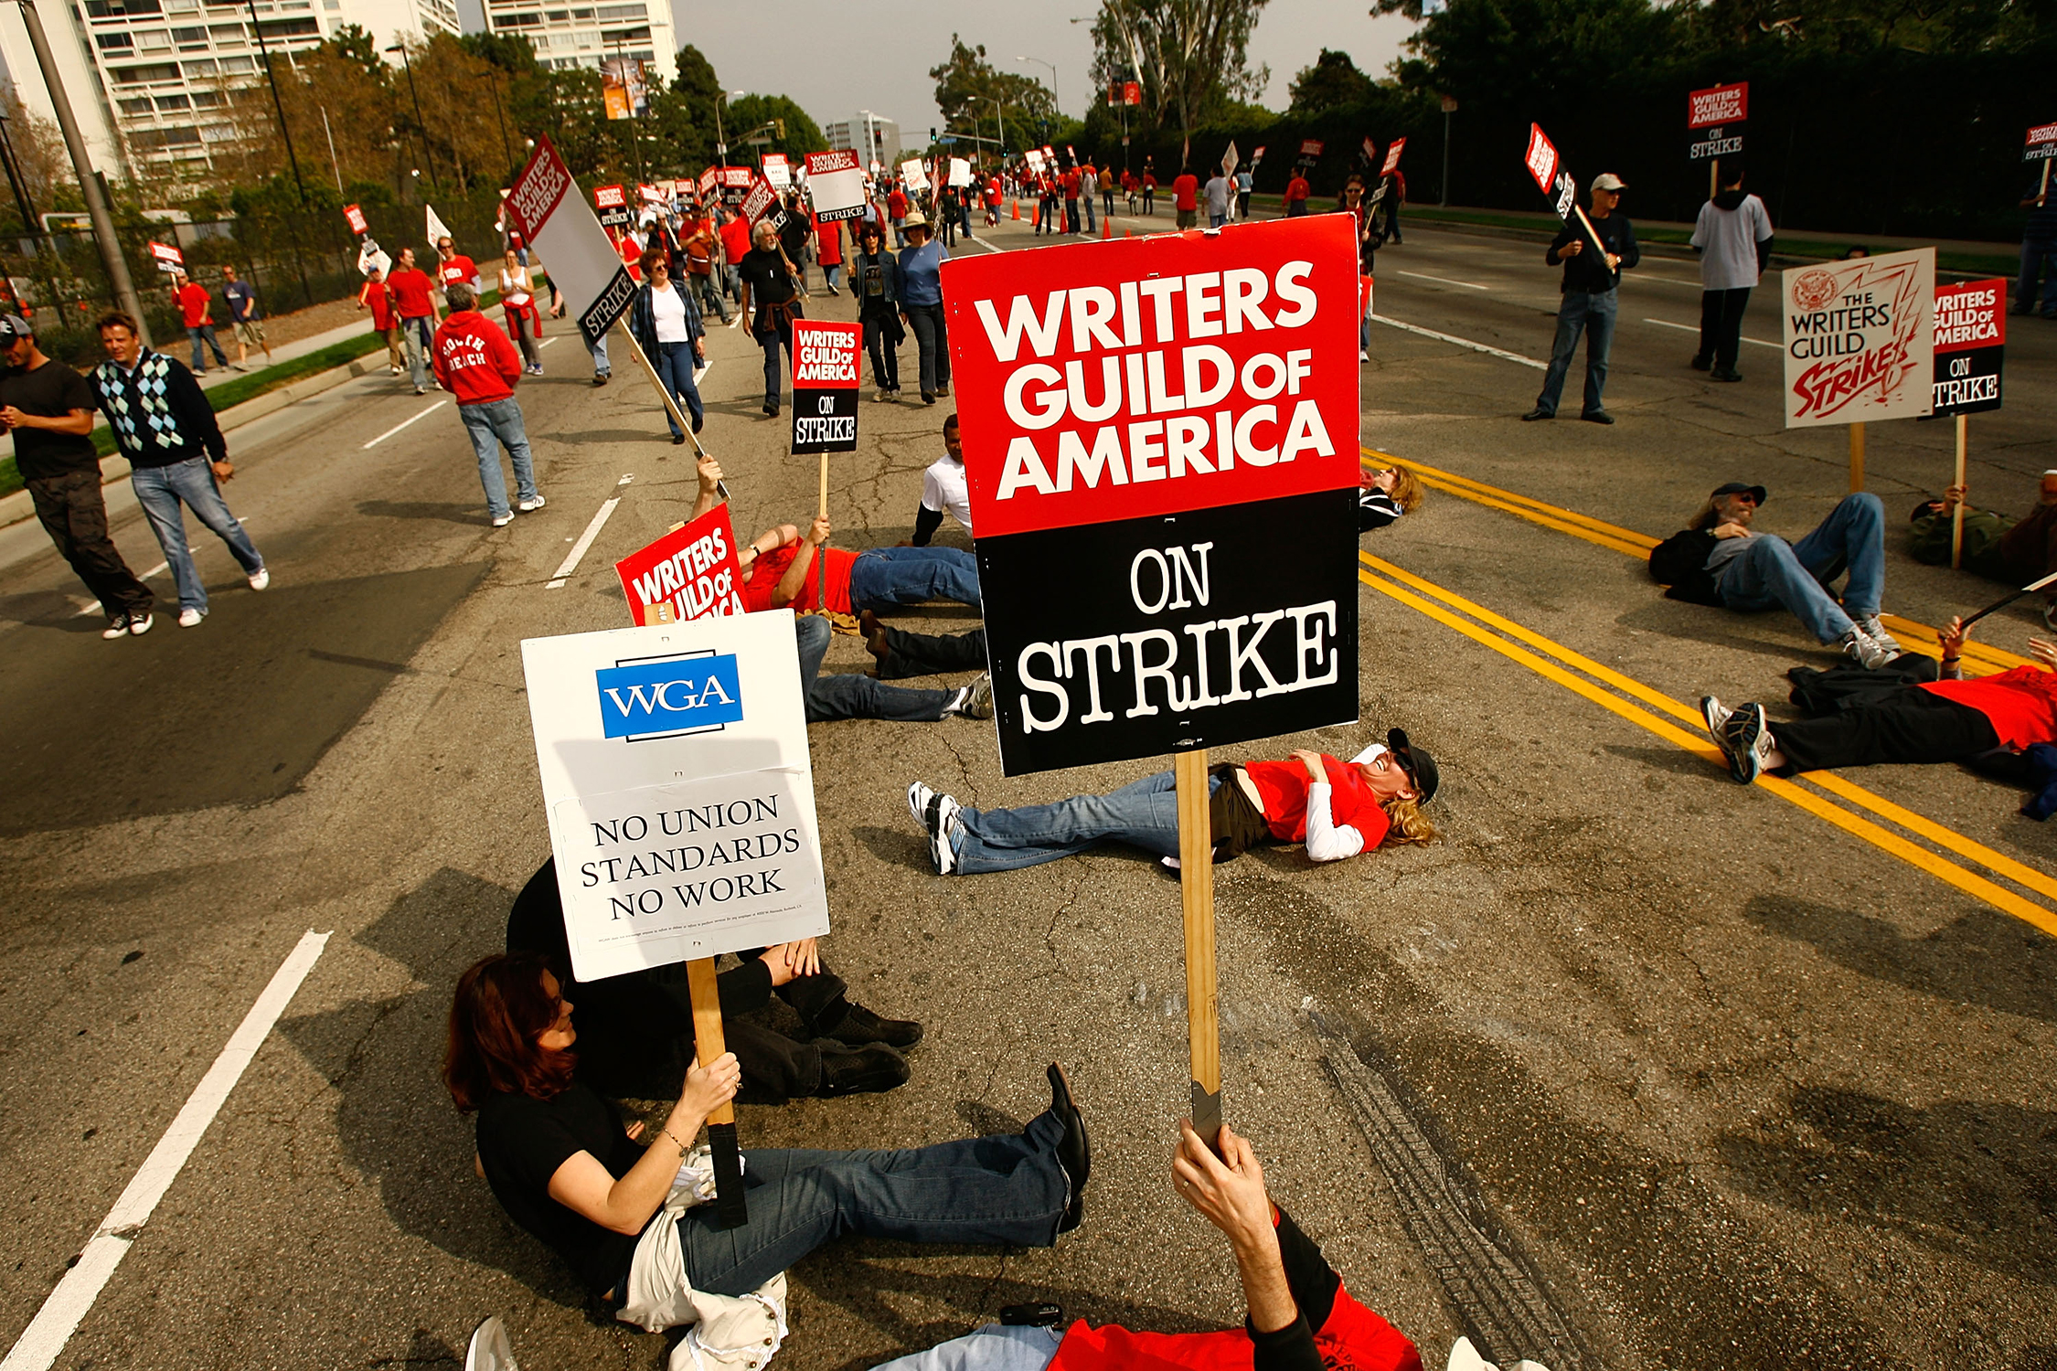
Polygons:
M1012 224L1000 243L1033 245ZM1413 230L1378 267L1382 317L1547 356L1539 245ZM1777 337L1765 296L1746 337ZM854 314L847 296L817 306ZM1539 370L1374 325L1366 446L1489 487L1444 481L1366 539L1364 719L1438 754L1444 841L1218 872L1228 1116L1430 1365L1469 1330L1557 1371L2049 1367L2057 950L2034 925L2057 925L2053 835L1952 769L1843 777L1851 798L1742 789L1691 750L1666 701L1689 715L1711 689L1777 713L1781 672L1829 660L1785 619L1660 598L1623 539L1664 536L1730 477L1769 485L1765 524L1800 532L1847 489L1843 438L1779 425L1775 351L1744 345L1746 380L1716 386L1685 368L1687 333L1644 323L1695 323L1691 263L1646 259L1621 317L1613 428L1520 423ZM2057 467L2057 331L2010 323L2010 401L1973 421L1973 489L2020 510ZM712 356L706 438L738 526L802 520L815 462L757 417L757 356L722 329ZM56 1365L455 1365L494 1311L522 1365L658 1365L656 1338L592 1322L500 1215L436 1083L450 983L500 946L547 849L516 645L625 623L613 559L693 493L636 376L590 386L570 337L545 362L520 399L549 506L504 530L448 405L389 434L434 397L364 378L241 430L228 499L274 586L251 594L202 534L214 613L193 631L160 617L103 643L33 530L0 534L6 1342L321 929ZM907 536L944 411L864 405L831 487L843 547ZM1948 465L1948 425L1872 430L1894 522ZM152 567L132 502L113 504ZM1915 621L1993 590L1911 563L1897 530L1888 557L1888 608ZM2032 625L2008 610L1987 637L2020 652ZM837 639L831 664L862 662ZM1010 781L979 724L810 732L829 954L864 1003L930 1034L905 1087L745 1108L747 1143L1006 1128L1059 1059L1096 1168L1086 1225L1055 1250L808 1258L780 1363L868 1367L1022 1299L1138 1328L1236 1322L1228 1254L1166 1186L1187 1079L1177 884L1123 853L936 878L901 800L913 777L991 806L1148 767Z

